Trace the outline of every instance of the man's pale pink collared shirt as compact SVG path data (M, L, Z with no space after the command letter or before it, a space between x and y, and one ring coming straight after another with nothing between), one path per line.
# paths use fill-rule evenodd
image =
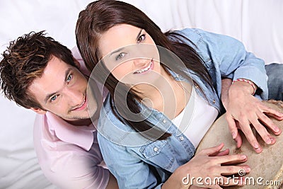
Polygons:
M79 52L72 51L81 71L88 74ZM59 188L106 188L109 171L104 168L96 133L93 125L74 126L50 112L37 114L33 142L47 179Z

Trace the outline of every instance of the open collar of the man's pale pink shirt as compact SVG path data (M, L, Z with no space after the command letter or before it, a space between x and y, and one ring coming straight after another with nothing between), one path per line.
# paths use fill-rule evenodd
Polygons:
M93 144L93 132L96 128L93 124L84 126L74 126L66 120L59 118L53 113L47 112L48 129L64 142L76 144L77 146L89 150Z

